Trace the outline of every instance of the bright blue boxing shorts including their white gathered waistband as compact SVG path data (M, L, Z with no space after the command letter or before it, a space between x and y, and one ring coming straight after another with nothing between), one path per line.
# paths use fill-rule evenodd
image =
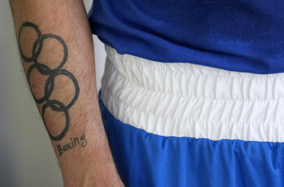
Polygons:
M151 77L150 69L146 71L141 67L147 67L147 64L136 67L146 74L146 78L142 76L141 79L137 79L135 77L143 73L138 70L140 73L133 73L135 64L129 65L127 62L122 62L131 67L129 69L122 68L123 65L113 64L119 58L114 57L114 51L108 50L111 49L107 49L108 59L102 89L99 92L99 105L113 157L126 186L283 186L284 135L281 136L283 115L281 110L275 110L272 101L269 100L267 103L266 100L261 99L261 97L268 97L269 91L264 95L261 95L262 92L258 93L258 89L253 92L253 84L251 84L249 90L251 93L246 95L248 91L245 90L245 83L239 81L243 85L243 92L241 92L243 98L241 98L237 95L237 91L232 91L234 88L222 87L227 84L227 80L220 84L221 87L217 84L210 87L212 84L204 83L207 90L214 89L215 93L212 94L203 90L204 87L200 88L200 91L197 90L198 84L202 82L202 77L197 75L198 84L190 83L193 85L193 93L187 97L190 102L185 100L180 102L185 92L188 93L191 90L183 90L185 86L175 88L175 82L157 85L156 82L151 82L154 81L152 79L146 80ZM121 56L122 61L128 58ZM136 60L132 61L141 62L141 59L133 58ZM114 71L113 68L116 70ZM167 67L153 68L159 71ZM117 70L126 74L120 76ZM162 76L156 70L154 71L155 81ZM195 74L197 74L196 71ZM204 70L202 71L202 74L205 74ZM169 71L165 72L169 73ZM180 73L176 70L175 72ZM184 74L182 76L186 76L186 73ZM170 76L174 75L171 73ZM159 82L167 80L167 76L168 74L162 76ZM239 77L247 79L246 77L249 76L251 74L238 74L238 76L218 74L216 79L220 82L234 77L233 86L235 87L238 85L236 79ZM254 77L256 76L252 76L252 80L258 85L259 78L257 77L256 80ZM208 82L209 78L204 79ZM129 81L130 79L133 81ZM184 77L184 79L187 78ZM263 81L263 79L262 77L260 81L267 84L269 80ZM150 89L153 85L155 89ZM171 90L167 89L168 85L172 88ZM141 90L137 91L135 87ZM181 91L177 91L178 87ZM229 91L222 91L223 89ZM221 91L222 94L220 94ZM178 92L182 96L175 99ZM230 96L237 99L214 98L218 94L225 97L226 92L233 92ZM272 95L275 96L275 92L277 91L275 90ZM172 95L170 98L168 98L169 94ZM192 100L195 97L194 94L200 97ZM201 97L202 94L207 96ZM252 95L259 98L249 98ZM206 99L209 96L213 98L213 101ZM202 100L203 98L205 101ZM156 104L155 100L157 100ZM201 105L200 100L202 100ZM179 104L174 105L171 102ZM232 103L228 105L229 108L226 108L230 102ZM265 102L265 104L257 102ZM280 101L277 100L277 102ZM238 105L242 110L239 110ZM283 105L279 107L281 106ZM272 110L271 107L274 109ZM219 115L220 113L222 115ZM237 121L235 118L240 120ZM256 120L260 120L259 123Z

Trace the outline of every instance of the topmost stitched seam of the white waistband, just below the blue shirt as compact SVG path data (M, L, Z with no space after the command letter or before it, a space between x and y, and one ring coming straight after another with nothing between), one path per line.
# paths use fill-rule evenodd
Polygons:
M110 50L113 50L113 49L110 49ZM155 70L162 70L162 71L171 71L173 73L185 73L185 74L189 74L189 75L202 75L202 76L214 76L214 77L234 77L234 78L275 78L275 77L284 77L284 75L277 75L277 74L282 74L282 73L275 73L275 74L256 74L256 73L248 73L248 74L256 74L256 75L253 75L253 76L228 76L228 75L214 75L214 74L204 74L204 73L200 73L200 74L197 74L197 73L188 73L188 72L185 72L185 71L173 71L171 69L164 69L164 68L154 68L152 66L149 66L149 65L142 65L140 63L138 63L137 61L135 60L131 60L130 59L130 55L128 54L125 54L125 55L120 55L119 53L117 53L116 51L111 51L111 53L113 53L112 55L119 55L118 58L123 58L125 59L126 61L129 61L129 62L132 62L132 63L135 63L137 65L141 65L141 66L144 66L144 67L148 67L148 68L151 68L151 69L155 69ZM140 58L140 57L136 57L136 56L133 56L135 58ZM114 59L115 60L115 59ZM142 60L147 60L147 59L142 59ZM152 60L149 60L149 61L152 61ZM151 63L151 62L149 62ZM156 61L153 61L153 63L162 63L162 62L156 62ZM178 62L177 62L178 63ZM191 63L188 63L190 65L196 65L196 66L202 66L202 65L198 65L198 64L191 64ZM207 66L204 66L204 67L207 67ZM213 67L208 67L208 68L213 68ZM214 68L214 69L218 69L218 68ZM229 70L223 70L223 69L220 69L222 71L229 71ZM201 70L202 71L202 70ZM237 71L231 71L231 72L235 72L235 73L247 73L247 72L237 72Z

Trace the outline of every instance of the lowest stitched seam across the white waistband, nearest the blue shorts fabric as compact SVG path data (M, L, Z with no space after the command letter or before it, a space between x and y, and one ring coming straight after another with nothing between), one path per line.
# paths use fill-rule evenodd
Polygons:
M107 88L105 88L107 89ZM137 110L140 112L144 112L145 114L152 114L154 116L158 116L158 117L164 117L164 118L169 118L169 119L175 119L175 120L180 120L181 122L183 121L196 121L196 122L206 122L206 123L225 123L225 124L284 124L284 122L227 122L227 121L209 121L209 120L202 120L202 119L192 119L192 118L188 118L188 119L183 119L183 118L177 118L177 117L169 117L169 116L164 116L164 115L159 115L156 114L154 112L149 112L149 111L144 111L140 108L134 107L126 102L121 101L120 99L118 99L117 97L115 97L114 95L112 95L111 92L108 92L107 94L112 96L112 100L114 100L114 102L118 102L126 107L130 107L133 110ZM107 106L107 105L105 105Z

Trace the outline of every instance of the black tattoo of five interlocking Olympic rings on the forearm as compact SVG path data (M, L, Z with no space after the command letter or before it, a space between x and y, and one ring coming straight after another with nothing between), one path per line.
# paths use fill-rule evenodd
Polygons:
M33 29L35 29L37 35L38 35L38 39L35 40L35 43L33 45L33 52L32 52L32 57L26 57L21 49L21 44L20 44L20 37L21 37L21 31L24 27L32 27ZM77 100L78 96L79 96L79 85L77 80L75 79L75 77L73 76L72 73L70 73L69 71L65 70L65 69L61 69L62 66L64 65L64 63L67 60L68 57L68 50L67 50L67 46L65 44L65 42L63 41L63 39L60 36L57 36L55 34L41 34L41 31L38 29L38 27L30 22L25 22L21 25L20 27L20 31L19 31L19 49L20 49L20 53L22 58L25 60L25 62L33 62L33 65L30 66L29 70L28 70L28 84L30 85L30 73L31 71L36 68L42 75L49 75L49 78L46 80L46 84L44 87L44 96L43 98L35 98L35 96L33 95L33 98L35 100L36 103L43 103L44 101L46 101L46 103L43 105L42 107L42 119L43 119L43 123L46 127L46 130L49 134L49 136L53 139L53 140L61 140L66 132L69 129L69 125L70 125L70 118L69 118L69 113L68 113L68 109L73 106L73 104L75 103L75 101ZM54 38L57 39L63 46L64 49L64 57L62 62L59 64L59 66L55 69L50 69L47 65L41 64L38 62L38 56L41 53L41 49L43 46L43 40L47 39L47 38ZM37 49L37 50L36 50ZM75 86L75 95L74 98L72 99L72 101L65 106L63 103L61 103L58 100L49 100L49 97L51 95L51 92L54 89L54 78L57 75L65 75L68 76L74 83ZM58 135L58 136L53 136L51 135L51 133L49 132L47 126L46 126L46 122L44 120L44 112L46 110L47 107L50 107L53 111L60 111L60 112L64 112L65 114L65 118L66 118L66 124L65 124L65 128L64 130Z

